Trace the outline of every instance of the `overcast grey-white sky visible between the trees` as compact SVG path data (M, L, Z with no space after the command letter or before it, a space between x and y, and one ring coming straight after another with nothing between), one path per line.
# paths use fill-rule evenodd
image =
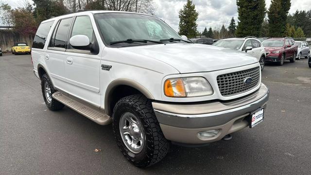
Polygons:
M1 1L1 0L0 0ZM9 3L13 8L20 6L24 0L2 0ZM31 1L31 0L29 0ZM168 23L174 30L178 31L178 12L187 0L154 0L155 15ZM223 22L230 23L232 17L238 18L236 0L192 0L196 10L199 12L198 30L202 32L205 27L215 28ZM269 8L271 0L266 0ZM290 13L296 10L310 10L311 0L292 0Z

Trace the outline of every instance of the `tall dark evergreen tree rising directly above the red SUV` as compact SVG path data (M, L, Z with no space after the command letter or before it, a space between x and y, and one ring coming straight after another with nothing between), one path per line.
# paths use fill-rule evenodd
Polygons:
M268 11L270 36L284 35L287 15L290 8L291 0L271 0L271 5Z

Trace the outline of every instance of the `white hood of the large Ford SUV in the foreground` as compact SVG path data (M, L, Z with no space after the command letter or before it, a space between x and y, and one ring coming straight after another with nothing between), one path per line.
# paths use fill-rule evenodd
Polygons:
M257 62L249 54L204 44L170 43L120 49L152 57L180 73L223 70Z

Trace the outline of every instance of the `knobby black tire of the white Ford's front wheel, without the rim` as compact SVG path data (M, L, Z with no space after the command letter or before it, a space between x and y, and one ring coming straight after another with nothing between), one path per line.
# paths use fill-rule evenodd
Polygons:
M145 133L144 147L139 153L131 152L123 142L120 133L121 116L130 112L134 114ZM164 138L155 117L151 101L137 94L122 98L113 110L113 131L123 156L137 167L148 167L163 159L169 150L169 141Z

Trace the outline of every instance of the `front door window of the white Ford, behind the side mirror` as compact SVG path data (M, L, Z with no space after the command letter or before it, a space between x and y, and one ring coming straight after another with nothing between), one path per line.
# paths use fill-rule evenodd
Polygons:
M86 35L92 42L93 28L91 20L88 16L76 18L71 33L71 36L74 35Z

